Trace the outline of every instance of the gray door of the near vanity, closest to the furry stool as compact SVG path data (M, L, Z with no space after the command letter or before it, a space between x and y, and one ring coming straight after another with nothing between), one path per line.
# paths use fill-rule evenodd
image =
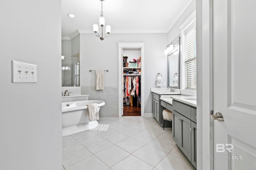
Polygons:
M172 139L180 147L180 113L172 111Z

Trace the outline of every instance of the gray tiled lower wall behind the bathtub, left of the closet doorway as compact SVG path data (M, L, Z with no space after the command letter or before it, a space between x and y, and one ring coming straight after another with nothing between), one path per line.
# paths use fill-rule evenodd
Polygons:
M89 100L105 102L105 105L100 107L99 117L118 117L118 87L96 90L96 86L82 86L81 94L89 94Z

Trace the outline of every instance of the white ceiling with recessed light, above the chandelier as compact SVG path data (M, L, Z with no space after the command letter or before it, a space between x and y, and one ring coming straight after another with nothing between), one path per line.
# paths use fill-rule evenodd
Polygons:
M105 25L111 33L166 33L192 0L104 0ZM62 0L62 37L93 33L99 24L100 0ZM68 17L68 13L75 18Z

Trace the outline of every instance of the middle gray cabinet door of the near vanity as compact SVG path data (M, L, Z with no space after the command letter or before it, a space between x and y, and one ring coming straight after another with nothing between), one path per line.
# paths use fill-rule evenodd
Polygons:
M191 162L191 120L180 115L180 150Z

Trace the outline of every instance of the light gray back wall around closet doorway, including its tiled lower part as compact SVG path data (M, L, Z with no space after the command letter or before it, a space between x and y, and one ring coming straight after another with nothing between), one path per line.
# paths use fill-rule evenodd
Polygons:
M164 55L166 35L110 34L101 41L94 34L80 34L80 86L82 94L90 92L89 100L102 98L106 102L106 112L100 116L118 117L118 42L145 42L145 72L142 73L145 75L145 113L152 113L150 88L156 87L156 74L160 72L162 82L167 82L167 56ZM90 69L109 70L105 72L106 90L96 91L96 75L95 72L89 72Z

